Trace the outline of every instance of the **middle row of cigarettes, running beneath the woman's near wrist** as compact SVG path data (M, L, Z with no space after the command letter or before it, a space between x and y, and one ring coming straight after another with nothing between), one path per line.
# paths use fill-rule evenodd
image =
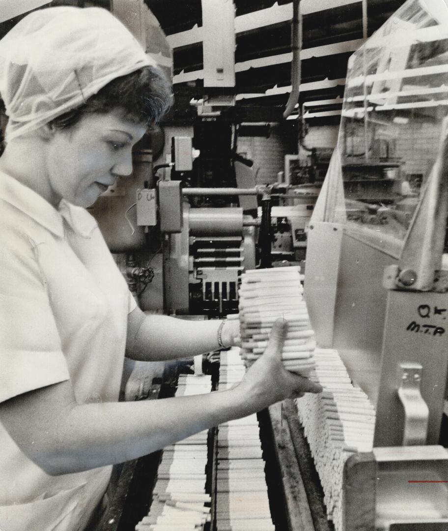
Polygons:
M244 373L239 348L221 352L220 390L234 386ZM255 414L219 425L217 531L274 531L262 453Z

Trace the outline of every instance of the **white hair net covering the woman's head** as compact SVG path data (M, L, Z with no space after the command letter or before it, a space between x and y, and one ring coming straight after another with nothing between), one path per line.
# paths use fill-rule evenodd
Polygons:
M50 7L22 19L0 40L0 94L6 140L82 105L109 81L156 63L100 7Z

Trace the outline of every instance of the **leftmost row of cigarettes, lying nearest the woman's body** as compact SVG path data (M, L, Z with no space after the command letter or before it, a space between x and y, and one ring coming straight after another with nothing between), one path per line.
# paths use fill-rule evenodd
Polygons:
M211 391L210 376L179 376L176 396ZM210 521L210 494L205 492L208 431L196 433L163 450L148 516L136 531L196 531Z

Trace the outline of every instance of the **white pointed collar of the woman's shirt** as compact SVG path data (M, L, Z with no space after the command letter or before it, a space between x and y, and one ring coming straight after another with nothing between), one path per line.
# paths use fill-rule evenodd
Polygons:
M64 220L76 234L85 238L90 237L92 230L98 226L83 208L75 207L65 200L55 208L37 192L3 172L0 172L0 199L21 210L60 238L64 237ZM83 215L80 215L81 211Z

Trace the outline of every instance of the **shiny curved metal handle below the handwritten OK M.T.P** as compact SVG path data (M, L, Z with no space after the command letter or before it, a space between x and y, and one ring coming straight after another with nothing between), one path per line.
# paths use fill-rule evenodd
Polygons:
M422 370L419 363L398 365L398 397L404 408L403 446L426 444L429 409L420 394Z

